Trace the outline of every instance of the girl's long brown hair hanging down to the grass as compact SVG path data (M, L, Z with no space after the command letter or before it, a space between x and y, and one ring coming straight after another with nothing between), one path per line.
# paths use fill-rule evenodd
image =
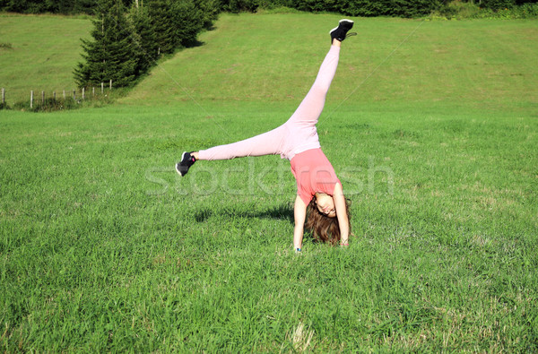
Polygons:
M351 235L351 218L349 201L345 200L345 212L349 220ZM331 246L338 245L340 241L340 226L338 218L329 218L317 210L316 197L314 196L307 207L307 222L305 228L312 231L312 237L319 242L328 242Z

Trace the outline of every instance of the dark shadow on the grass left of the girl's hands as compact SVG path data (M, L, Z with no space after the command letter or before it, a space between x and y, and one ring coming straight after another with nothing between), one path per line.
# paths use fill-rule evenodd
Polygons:
M281 204L279 206L267 209L265 211L256 210L236 210L236 209L209 209L195 212L196 222L204 222L205 220L213 216L225 216L229 218L257 218L257 219L287 219L293 222L293 208L288 204Z

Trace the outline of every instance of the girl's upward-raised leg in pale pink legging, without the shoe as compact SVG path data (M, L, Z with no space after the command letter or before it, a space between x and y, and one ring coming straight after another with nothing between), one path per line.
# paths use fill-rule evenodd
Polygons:
M340 42L337 42L329 49L319 68L316 81L288 122L301 126L314 126L317 124L317 119L325 106L325 96L333 81L334 73L336 73L339 57Z

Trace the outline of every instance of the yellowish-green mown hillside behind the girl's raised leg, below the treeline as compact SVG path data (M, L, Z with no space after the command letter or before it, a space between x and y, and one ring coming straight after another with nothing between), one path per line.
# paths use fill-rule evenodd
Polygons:
M222 15L216 30L200 37L204 46L162 63L125 102L297 102L325 56L327 29L338 19L308 13ZM347 97L375 69L351 101L478 107L484 102L536 102L538 97L538 22L359 19L353 30L359 36L344 42L342 67L328 102Z

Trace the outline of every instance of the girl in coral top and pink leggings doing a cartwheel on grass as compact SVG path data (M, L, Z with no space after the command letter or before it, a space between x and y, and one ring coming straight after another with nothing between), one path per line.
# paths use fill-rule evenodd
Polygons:
M197 160L230 160L246 156L280 154L291 162L291 172L297 180L297 198L294 205L295 229L293 246L300 252L305 220L307 229L323 242L348 246L350 235L349 211L343 195L343 187L334 168L320 149L316 124L325 105L325 96L334 78L340 46L346 36L355 35L348 30L350 20L341 20L331 30L331 48L299 108L283 125L265 134L247 140L211 149L183 152L176 170L181 176L187 174ZM307 212L308 210L308 212ZM307 220L308 216L308 220Z

